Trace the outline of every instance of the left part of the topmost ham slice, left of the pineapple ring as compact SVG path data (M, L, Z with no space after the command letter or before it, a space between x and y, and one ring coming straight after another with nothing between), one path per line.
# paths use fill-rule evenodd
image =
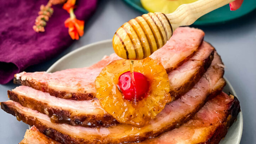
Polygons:
M55 73L23 71L14 76L14 83L31 86L60 98L91 100L96 93L94 84L96 77L104 66L117 59L120 58L116 54L111 54L90 67L66 69Z

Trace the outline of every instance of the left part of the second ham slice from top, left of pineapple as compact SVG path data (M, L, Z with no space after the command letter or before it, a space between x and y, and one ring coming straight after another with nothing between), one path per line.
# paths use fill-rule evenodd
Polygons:
M47 114L53 123L83 127L108 127L118 123L100 106L97 99L66 100L28 86L18 86L8 91L8 96L22 106Z

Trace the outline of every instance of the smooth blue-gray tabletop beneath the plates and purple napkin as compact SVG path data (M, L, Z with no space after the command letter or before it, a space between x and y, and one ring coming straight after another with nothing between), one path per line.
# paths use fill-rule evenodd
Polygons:
M200 26L205 40L222 56L225 77L233 85L239 97L244 129L241 144L256 143L256 11L237 20L218 26ZM142 15L121 0L101 0L92 18L86 23L85 34L64 52L52 60L30 66L25 71L46 71L56 60L86 44L111 39L124 22ZM194 26L197 27L197 26ZM7 90L17 85L9 82L0 85L0 101L8 100ZM17 144L23 139L28 125L18 122L10 114L0 110L1 144Z

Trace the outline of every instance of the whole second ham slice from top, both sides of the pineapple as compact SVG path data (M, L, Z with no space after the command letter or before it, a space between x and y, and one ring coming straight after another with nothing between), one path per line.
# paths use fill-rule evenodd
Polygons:
M171 100L185 94L198 82L210 66L213 54L214 48L203 42L193 57L169 73ZM8 95L10 100L19 102L24 107L47 114L54 123L83 127L108 127L118 123L100 107L97 99L66 100L28 86L16 87L8 91Z

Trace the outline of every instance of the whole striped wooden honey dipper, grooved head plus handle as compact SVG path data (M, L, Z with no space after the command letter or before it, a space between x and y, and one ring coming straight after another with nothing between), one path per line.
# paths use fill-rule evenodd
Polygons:
M198 0L179 6L171 14L148 13L124 23L113 37L116 54L129 60L149 57L164 46L179 26L188 26L199 17L234 0Z

